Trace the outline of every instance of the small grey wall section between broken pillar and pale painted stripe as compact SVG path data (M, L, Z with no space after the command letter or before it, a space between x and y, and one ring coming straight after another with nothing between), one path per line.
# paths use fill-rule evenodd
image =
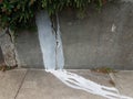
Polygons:
M22 67L44 68L37 32L20 32L17 36L17 51Z

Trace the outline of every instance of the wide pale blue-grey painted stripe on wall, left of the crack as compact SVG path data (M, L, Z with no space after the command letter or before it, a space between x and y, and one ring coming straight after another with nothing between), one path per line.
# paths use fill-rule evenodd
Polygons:
M39 41L43 55L43 64L45 69L55 69L55 33L52 30L50 18L47 12L37 14L37 26L39 32Z

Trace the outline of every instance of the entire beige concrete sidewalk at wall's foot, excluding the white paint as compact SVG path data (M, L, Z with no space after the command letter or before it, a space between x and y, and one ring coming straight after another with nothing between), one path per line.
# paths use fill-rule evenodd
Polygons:
M133 97L133 70L115 74L89 69L69 70L105 86L115 86L122 95ZM112 82L114 81L114 84ZM42 69L0 72L0 99L105 99L83 90L72 89Z

